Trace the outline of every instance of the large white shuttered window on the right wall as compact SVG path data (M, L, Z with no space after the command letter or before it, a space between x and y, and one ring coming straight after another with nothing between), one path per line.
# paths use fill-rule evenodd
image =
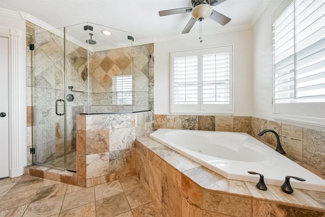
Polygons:
M273 112L325 118L325 2L293 1L273 22Z

